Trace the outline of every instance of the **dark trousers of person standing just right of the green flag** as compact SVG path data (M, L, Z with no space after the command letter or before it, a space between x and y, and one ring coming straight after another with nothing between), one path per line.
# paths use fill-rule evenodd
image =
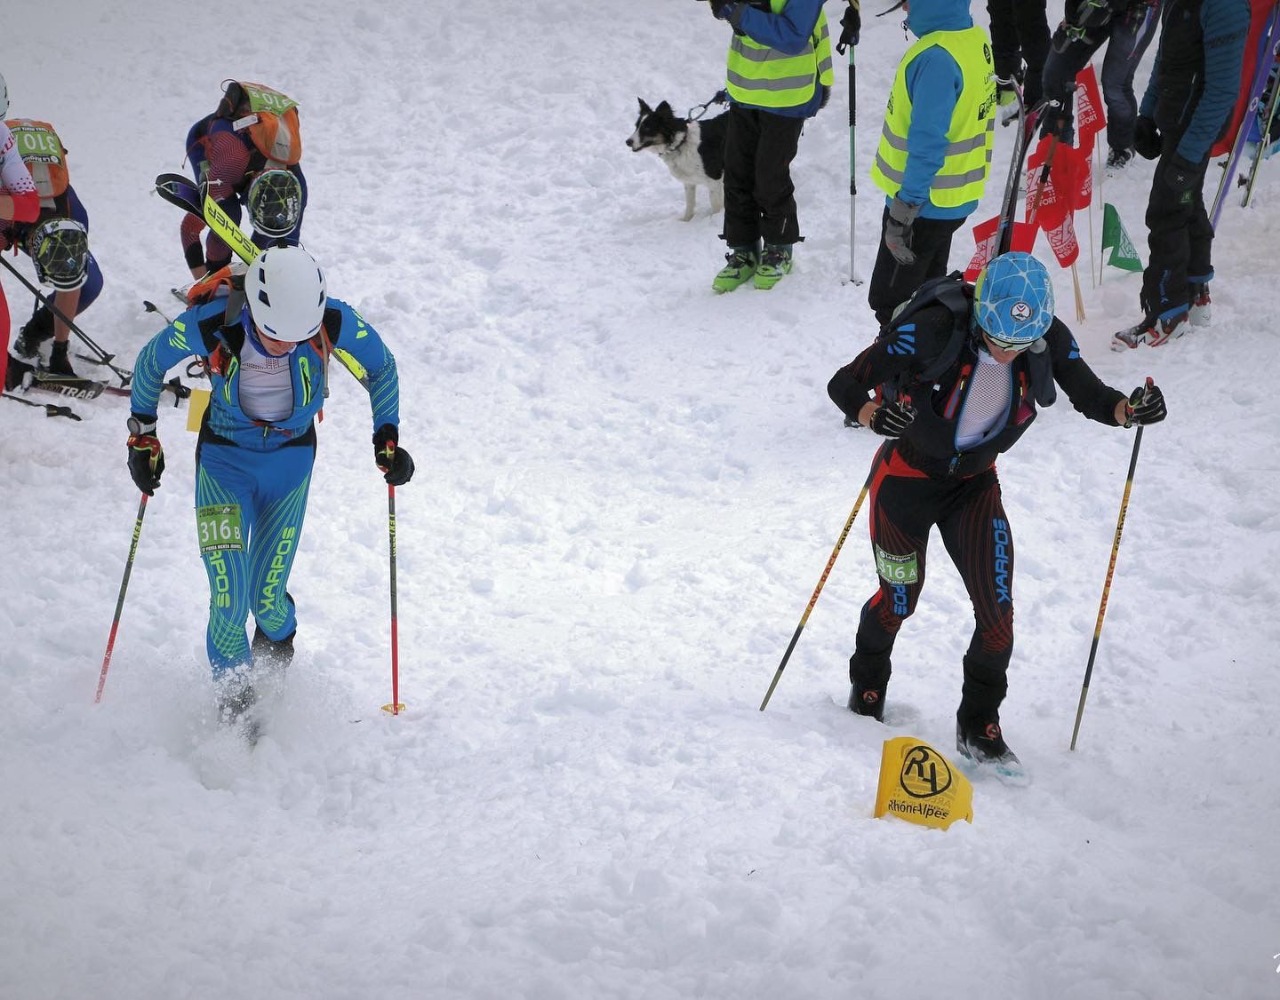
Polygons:
M1204 172L1190 178L1187 191L1174 191L1165 179L1180 133L1165 133L1147 201L1147 248L1151 259L1142 274L1142 311L1147 321L1170 318L1190 305L1190 282L1213 274L1213 227L1204 209Z

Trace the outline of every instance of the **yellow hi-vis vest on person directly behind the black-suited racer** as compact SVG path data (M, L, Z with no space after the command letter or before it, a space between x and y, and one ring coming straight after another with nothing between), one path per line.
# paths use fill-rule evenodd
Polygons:
M872 182L893 197L902 187L906 169L906 132L911 125L911 96L906 91L906 67L933 45L946 49L960 67L964 87L947 127L947 151L929 186L929 201L955 209L978 201L991 173L991 147L996 129L996 82L987 32L974 26L964 31L934 31L906 50L893 77L893 90L884 110L884 128L872 164Z

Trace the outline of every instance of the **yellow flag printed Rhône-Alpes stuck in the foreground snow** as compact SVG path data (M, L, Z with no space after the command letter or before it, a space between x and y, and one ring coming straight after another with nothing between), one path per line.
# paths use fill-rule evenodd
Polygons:
M960 768L914 736L884 740L876 816L946 830L956 819L973 822L973 785Z

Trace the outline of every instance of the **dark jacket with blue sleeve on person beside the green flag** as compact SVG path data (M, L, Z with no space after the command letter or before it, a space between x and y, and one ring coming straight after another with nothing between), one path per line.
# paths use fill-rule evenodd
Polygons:
M1248 0L1169 0L1139 114L1181 133L1178 155L1204 163L1240 90Z

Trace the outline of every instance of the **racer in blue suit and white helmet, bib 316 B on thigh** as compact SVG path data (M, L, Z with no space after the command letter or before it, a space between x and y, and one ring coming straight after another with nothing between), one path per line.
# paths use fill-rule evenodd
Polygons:
M251 666L287 663L293 653L297 613L285 586L306 517L328 356L338 346L366 371L375 461L388 483L402 485L413 461L397 447L396 359L356 310L328 297L324 273L302 247L260 254L242 292L233 287L178 315L133 366L129 474L147 496L164 471L156 412L165 373L192 356L209 370L196 526L210 589L206 647L224 721L253 702Z

